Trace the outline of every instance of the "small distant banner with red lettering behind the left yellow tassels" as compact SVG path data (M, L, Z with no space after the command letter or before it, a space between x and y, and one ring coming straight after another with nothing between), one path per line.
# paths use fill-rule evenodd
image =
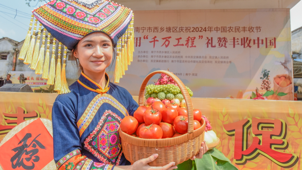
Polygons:
M28 84L33 90L40 90L41 88L47 90L50 85L47 84L47 80L42 78L42 75L35 74L34 71L10 71L11 81L14 84L20 84L20 75L23 74L25 84Z

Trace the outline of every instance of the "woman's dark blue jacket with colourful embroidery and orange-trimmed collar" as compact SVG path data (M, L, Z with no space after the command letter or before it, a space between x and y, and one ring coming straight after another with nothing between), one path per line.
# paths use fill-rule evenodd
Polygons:
M110 170L114 165L130 165L118 133L120 121L133 116L138 107L130 93L111 82L103 90L83 73L69 89L71 93L59 95L53 103L57 169Z

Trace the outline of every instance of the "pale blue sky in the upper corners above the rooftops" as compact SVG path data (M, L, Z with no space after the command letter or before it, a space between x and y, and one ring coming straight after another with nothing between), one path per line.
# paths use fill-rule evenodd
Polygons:
M22 41L29 27L31 11L45 2L31 2L31 7L25 0L0 1L0 38L8 37ZM17 16L16 15L17 9ZM302 26L302 1L291 9L291 30Z

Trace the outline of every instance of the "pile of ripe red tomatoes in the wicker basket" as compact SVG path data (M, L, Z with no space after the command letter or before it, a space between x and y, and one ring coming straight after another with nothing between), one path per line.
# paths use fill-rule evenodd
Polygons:
M194 130L201 127L201 111L193 110ZM143 138L162 139L181 136L188 132L188 112L177 104L154 102L151 106L140 106L133 116L126 116L120 123L123 132Z

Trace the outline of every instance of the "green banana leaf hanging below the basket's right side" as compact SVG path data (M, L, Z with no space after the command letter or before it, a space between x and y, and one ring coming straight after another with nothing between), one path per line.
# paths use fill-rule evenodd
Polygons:
M185 161L177 165L178 170L238 170L218 149L210 149L202 159Z

